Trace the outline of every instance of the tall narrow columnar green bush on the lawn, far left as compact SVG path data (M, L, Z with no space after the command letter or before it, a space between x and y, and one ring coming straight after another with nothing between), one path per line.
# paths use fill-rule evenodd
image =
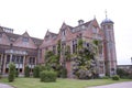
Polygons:
M9 64L9 76L8 76L9 81L10 82L13 81L14 77L15 77L15 65L13 63L10 63Z

